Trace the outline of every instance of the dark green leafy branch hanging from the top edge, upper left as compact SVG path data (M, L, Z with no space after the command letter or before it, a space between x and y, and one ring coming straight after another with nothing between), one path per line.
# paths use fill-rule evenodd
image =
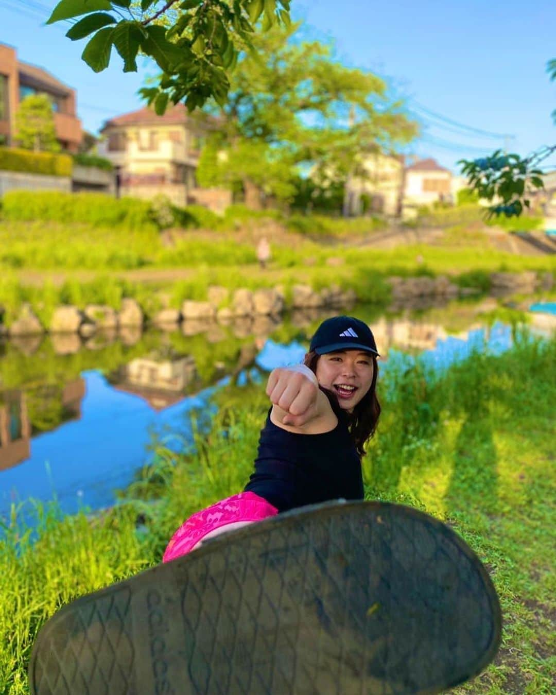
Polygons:
M163 73L148 96L156 113L169 99L193 111L210 97L224 104L229 74L239 52L251 48L256 22L261 18L263 30L288 24L289 6L290 0L61 0L47 24L85 15L66 36L92 34L81 56L92 70L108 67L113 47L124 72L137 71L139 53L150 56Z

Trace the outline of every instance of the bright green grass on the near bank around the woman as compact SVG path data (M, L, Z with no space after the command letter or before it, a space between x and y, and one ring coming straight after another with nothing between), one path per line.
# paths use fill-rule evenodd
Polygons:
M477 354L438 377L400 360L379 382L382 421L363 465L368 498L448 521L486 564L502 603L495 664L457 692L553 692L555 378L553 339ZM241 489L267 408L262 391L220 391L196 452L159 447L122 505L92 521L38 507L33 542L13 510L0 541L0 692L27 692L33 640L60 606L160 562L185 516Z

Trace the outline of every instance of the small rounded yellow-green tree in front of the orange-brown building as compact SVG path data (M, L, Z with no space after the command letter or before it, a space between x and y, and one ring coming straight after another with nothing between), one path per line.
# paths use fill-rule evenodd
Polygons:
M19 104L15 114L15 139L20 147L35 152L59 152L52 102L44 94L31 94Z

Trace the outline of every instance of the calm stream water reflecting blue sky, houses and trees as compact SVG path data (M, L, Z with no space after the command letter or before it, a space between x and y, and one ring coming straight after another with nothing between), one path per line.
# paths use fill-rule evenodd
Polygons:
M492 302L395 314L357 307L350 313L373 328L384 356L381 372L416 359L438 372L473 350L499 354L510 347L512 329L489 327L481 316ZM108 341L73 354L56 354L47 339L35 341L33 350L3 345L0 516L12 502L29 498L56 498L70 514L111 505L114 490L128 485L149 459L153 436L179 450L190 440L193 414L210 418L216 389L263 382L272 368L299 363L318 323L331 315L313 311L258 336L233 329L220 329L220 340L208 331L149 333L134 345Z

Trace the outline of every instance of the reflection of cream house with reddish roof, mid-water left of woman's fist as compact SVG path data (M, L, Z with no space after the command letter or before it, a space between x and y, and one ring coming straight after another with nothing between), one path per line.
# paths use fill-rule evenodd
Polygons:
M162 410L183 400L196 377L193 357L165 360L138 357L121 366L111 375L110 382L118 391L138 395L155 410Z

